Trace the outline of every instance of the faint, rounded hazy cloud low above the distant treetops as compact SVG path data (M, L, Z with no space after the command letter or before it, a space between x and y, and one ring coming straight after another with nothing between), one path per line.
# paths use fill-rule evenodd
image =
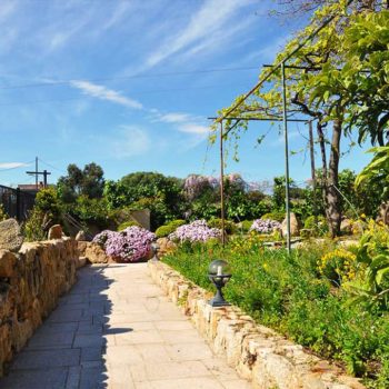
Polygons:
M119 159L141 156L151 149L149 133L136 126L122 126L120 131L110 138L114 140L110 141L109 151Z

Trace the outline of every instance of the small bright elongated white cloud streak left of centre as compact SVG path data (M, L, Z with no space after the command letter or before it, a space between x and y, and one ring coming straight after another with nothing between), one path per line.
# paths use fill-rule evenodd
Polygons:
M80 89L83 92L83 94L91 96L100 100L112 101L120 106L124 106L132 109L143 108L143 106L139 101L122 96L119 91L108 89L103 86L82 80L71 81L71 86Z

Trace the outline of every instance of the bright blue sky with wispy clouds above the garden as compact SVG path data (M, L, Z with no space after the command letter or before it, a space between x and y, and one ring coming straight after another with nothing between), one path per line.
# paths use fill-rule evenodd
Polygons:
M0 183L33 182L24 171L66 173L94 161L106 178L133 171L218 174L209 121L257 81L301 20L270 18L266 0L1 0ZM231 70L233 69L233 70ZM269 123L252 123L240 162L248 181L283 173L283 146ZM291 149L307 129L290 126ZM345 146L347 140L345 140ZM291 177L309 177L308 154ZM360 170L355 148L342 168ZM319 163L319 159L317 159Z

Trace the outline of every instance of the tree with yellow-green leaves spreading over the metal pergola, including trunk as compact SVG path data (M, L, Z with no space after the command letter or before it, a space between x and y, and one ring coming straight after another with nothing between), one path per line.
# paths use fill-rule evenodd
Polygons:
M382 94L388 88L389 71L387 13L375 1L357 1L351 6L345 0L326 2L315 12L311 23L287 44L275 61L279 63L289 57L288 64L295 66L287 69L288 112L308 116L317 122L322 199L332 236L339 233L341 220L341 197L337 188L342 134L349 134L357 128L360 141L370 136L372 142L379 142L388 128L388 99L385 98L387 93ZM330 22L329 18L332 18ZM307 41L320 26L325 27ZM371 39L362 39L362 42L356 40L357 32L359 37L367 37L369 31L379 36L379 44L373 44ZM301 41L307 43L296 51ZM379 74L377 80L376 72ZM267 74L266 69L260 80ZM361 92L356 93L359 88ZM377 100L371 98L375 92L379 96ZM250 100L241 102L242 97L238 97L232 104L239 104L233 110L236 117L280 118L280 69L268 78L262 88L255 91ZM227 111L230 112L231 108L221 113ZM247 129L247 123L246 120L240 120L238 124L226 120L226 129L233 127L230 136L239 138L239 132Z

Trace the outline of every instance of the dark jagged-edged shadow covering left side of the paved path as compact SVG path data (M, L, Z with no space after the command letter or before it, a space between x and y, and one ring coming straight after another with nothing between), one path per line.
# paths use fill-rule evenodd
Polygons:
M108 387L107 338L132 328L106 325L112 310L108 289L114 282L103 275L106 267L88 266L78 271L78 282L14 358L0 388Z

